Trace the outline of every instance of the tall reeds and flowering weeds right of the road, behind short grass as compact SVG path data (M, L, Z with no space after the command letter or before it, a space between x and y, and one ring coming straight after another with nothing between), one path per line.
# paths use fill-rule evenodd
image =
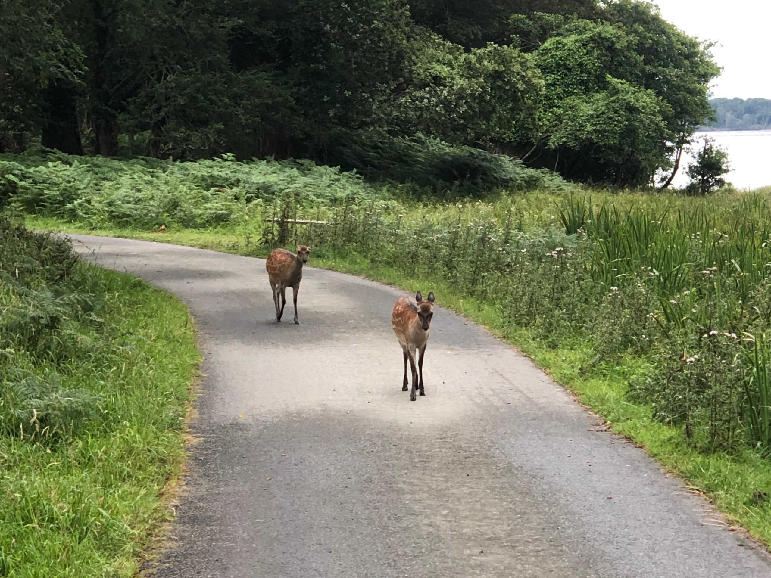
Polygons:
M405 207L372 201L335 208L330 225L300 236L322 256L357 254L442 279L554 348L581 341L594 351L584 371L644 361L631 398L705 452L771 450L752 425L771 329L766 197L624 206L568 195L549 208L557 219L504 197L406 217Z

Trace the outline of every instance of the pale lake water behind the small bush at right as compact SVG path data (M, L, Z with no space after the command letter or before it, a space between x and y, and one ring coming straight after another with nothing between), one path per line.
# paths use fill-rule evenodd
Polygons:
M715 144L729 155L731 172L724 178L738 189L757 189L771 185L771 130L719 130L696 133L696 138L710 136ZM692 158L685 158L680 164L672 185L685 187L689 177L685 169Z

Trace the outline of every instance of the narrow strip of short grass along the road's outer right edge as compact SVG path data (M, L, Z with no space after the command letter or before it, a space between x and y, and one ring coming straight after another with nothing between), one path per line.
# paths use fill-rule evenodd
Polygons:
M540 200L540 205L550 207L544 200ZM29 217L27 223L30 227L45 230L157 240L229 253L267 253L267 250L255 250L254 247L249 249L244 244L244 232L233 228L150 233L128 229L93 230L42 217ZM341 250L327 251L323 258L311 255L311 264L369 277L408 291L434 291L443 307L484 325L519 348L555 381L573 391L582 403L601 415L613 432L641 445L665 469L681 476L692 489L703 492L725 512L731 523L745 526L752 536L771 546L771 504L766 499L771 495L771 462L760 452L746 447L733 452L699 451L686 441L682 426L665 425L652 419L648 405L633 403L627 395L628 380L641 370L641 365L645 364L643 359L627 355L618 358L615 365L592 368L588 361L594 351L588 342L574 339L554 347L539 338L534 329L517 328L507 323L499 307L459 294L453 284L429 274L409 275ZM591 369L587 371L587 367Z

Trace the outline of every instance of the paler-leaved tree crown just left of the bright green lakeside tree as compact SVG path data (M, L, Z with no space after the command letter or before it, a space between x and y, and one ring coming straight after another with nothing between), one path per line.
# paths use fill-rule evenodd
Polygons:
M513 46L466 51L418 31L382 123L453 144L507 146L536 132L543 87L533 59Z

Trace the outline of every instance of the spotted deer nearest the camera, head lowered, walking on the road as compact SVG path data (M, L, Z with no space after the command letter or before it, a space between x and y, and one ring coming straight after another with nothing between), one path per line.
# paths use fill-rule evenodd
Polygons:
M420 395L426 395L426 389L423 387L423 355L426 353L426 345L429 341L429 329L431 328L431 318L433 317L433 292L429 293L428 299L423 301L423 294L418 291L415 299L412 297L401 297L393 306L391 314L391 327L402 346L404 353L404 381L402 381L402 391L407 391L407 361L412 369L412 391L409 392L409 401L416 400L416 389ZM418 380L418 371L415 368L415 351L418 351L418 370L420 379Z

